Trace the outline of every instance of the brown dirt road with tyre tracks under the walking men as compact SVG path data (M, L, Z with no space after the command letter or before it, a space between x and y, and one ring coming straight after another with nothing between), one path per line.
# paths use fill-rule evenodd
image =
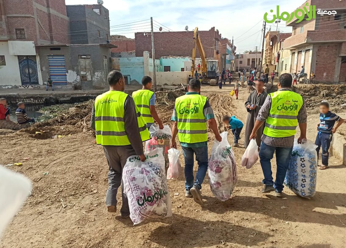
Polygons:
M246 89L240 90L239 100L229 97L230 90L228 85L222 90L202 88L220 131L226 130L221 124L226 113L246 121ZM160 116L170 123L171 110L161 108ZM309 139L315 138L317 120L317 114L309 114ZM213 197L207 176L202 189L204 202L195 204L184 197L182 170L179 179L169 181L172 218L133 227L129 219L107 213L104 207L108 166L102 147L94 145L92 136L73 130L73 126L55 128L56 134L72 133L60 139L38 140L20 132L1 136L6 149L0 164L30 157L23 166L11 168L28 176L34 188L4 234L1 248L346 247L346 166L335 158L330 159L330 169L318 171L315 197L303 199L285 188L281 199L260 193L263 175L259 162L251 169L242 168L244 148L234 148L238 183L233 198L220 202ZM209 139L211 149L210 131ZM233 144L230 132L228 139ZM243 141L244 131L240 143ZM176 192L179 195L173 196ZM120 209L120 193L118 200Z

